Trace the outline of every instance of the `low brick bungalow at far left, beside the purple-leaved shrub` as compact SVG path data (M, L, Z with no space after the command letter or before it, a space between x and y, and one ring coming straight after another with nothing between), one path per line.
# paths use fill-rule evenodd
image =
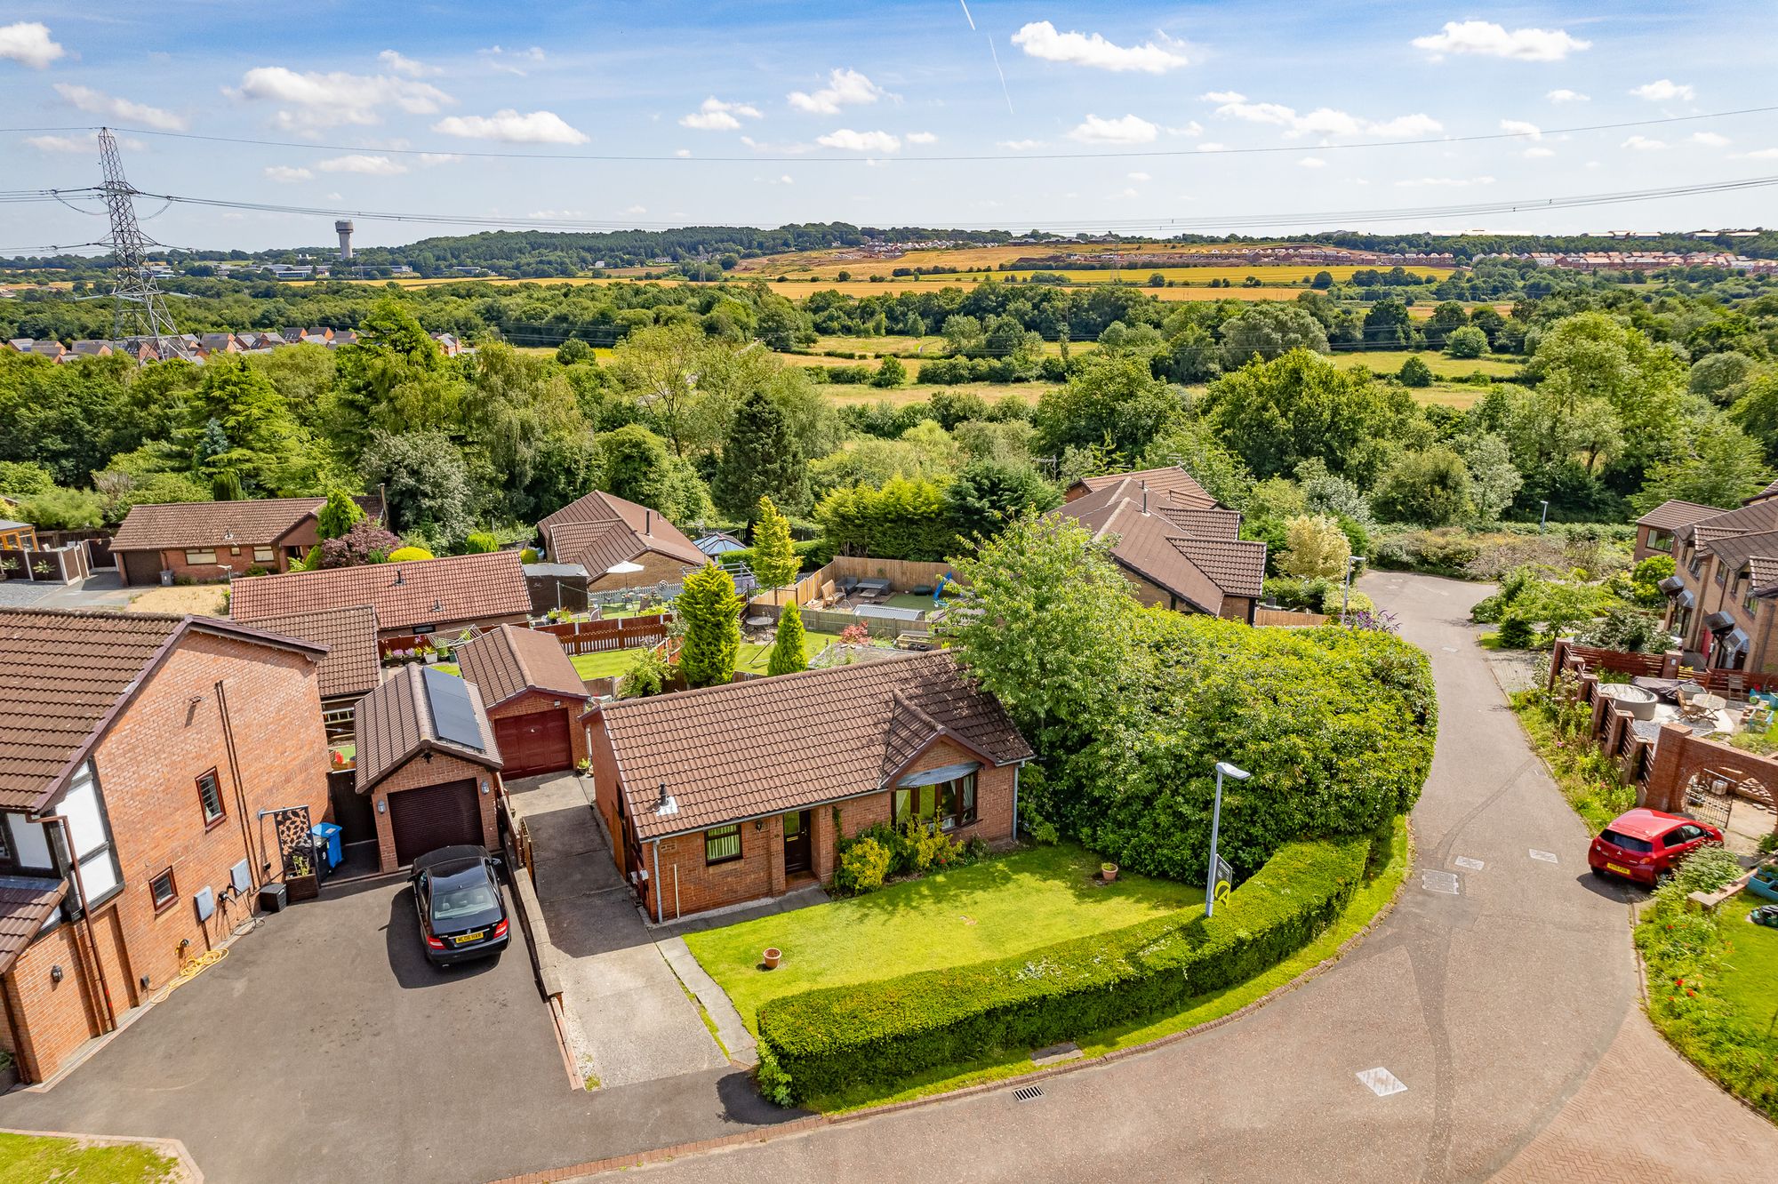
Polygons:
M359 498L379 514L375 498ZM251 567L290 571L320 542L316 516L327 498L256 498L130 507L112 539L117 576L126 585L174 578L224 580Z

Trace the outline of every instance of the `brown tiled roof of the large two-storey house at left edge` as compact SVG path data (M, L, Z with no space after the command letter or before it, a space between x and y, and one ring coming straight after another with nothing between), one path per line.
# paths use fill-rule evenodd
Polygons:
M185 633L325 654L210 617L0 608L0 809L34 811L55 796Z

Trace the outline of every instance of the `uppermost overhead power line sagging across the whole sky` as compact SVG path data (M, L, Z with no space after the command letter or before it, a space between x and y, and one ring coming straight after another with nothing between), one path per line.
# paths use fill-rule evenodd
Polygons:
M937 153L937 155L869 155L859 153L852 156L818 156L814 148L807 153L749 153L740 155L717 155L717 156L660 156L660 155L642 155L642 153L489 153L475 151L461 146L443 146L443 148L366 148L363 144L316 144L313 140L268 140L256 137L240 135L206 135L201 132L165 132L160 128L112 128L114 132L126 132L130 135L158 135L162 139L174 140L201 140L208 144L251 144L258 148L297 148L304 151L327 151L327 153L377 153L382 156L469 156L477 160L601 160L601 162L658 162L658 164L862 164L869 160L871 164L964 164L964 162L1013 162L1013 160L1124 160L1124 158L1157 158L1157 156L1250 156L1250 155L1273 155L1273 153L1303 153L1303 151L1353 151L1364 148L1417 148L1428 144L1479 144L1486 140L1531 140L1547 135L1582 135L1586 132L1622 132L1625 128L1655 128L1673 123L1698 123L1703 119L1735 119L1741 116L1764 116L1778 112L1778 107L1741 107L1735 110L1718 110L1702 116L1666 116L1659 119L1623 119L1618 123L1590 123L1568 128L1540 128L1536 132L1483 132L1476 135L1428 135L1419 139L1401 139L1401 140L1360 140L1353 144L1277 144L1277 146L1252 146L1252 148L1223 148L1213 153L1198 151L1197 148L1129 148L1118 151L1049 151L1049 153ZM96 126L57 126L57 128L0 128L0 133L14 132L96 132Z

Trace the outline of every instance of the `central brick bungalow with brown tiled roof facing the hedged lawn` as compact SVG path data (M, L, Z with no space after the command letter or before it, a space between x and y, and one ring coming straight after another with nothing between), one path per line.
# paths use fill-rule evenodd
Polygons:
M612 853L656 921L827 884L836 839L875 823L1010 839L1031 759L946 652L610 702L589 722Z

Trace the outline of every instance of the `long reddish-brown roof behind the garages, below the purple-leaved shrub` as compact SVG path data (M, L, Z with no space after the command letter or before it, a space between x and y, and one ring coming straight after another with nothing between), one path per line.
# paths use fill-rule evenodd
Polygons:
M370 604L382 629L407 629L517 617L532 608L517 551L247 576L231 588L235 620Z

